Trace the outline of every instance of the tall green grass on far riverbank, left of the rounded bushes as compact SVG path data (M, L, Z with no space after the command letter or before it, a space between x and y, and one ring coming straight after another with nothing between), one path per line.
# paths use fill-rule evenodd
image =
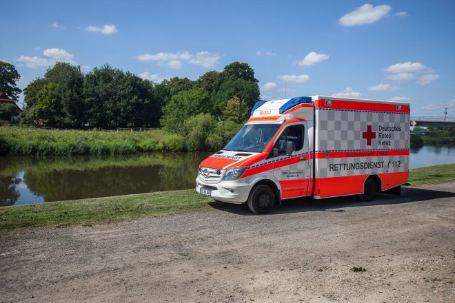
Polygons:
M0 127L0 154L62 156L185 150L183 136L169 134L163 129L108 132Z

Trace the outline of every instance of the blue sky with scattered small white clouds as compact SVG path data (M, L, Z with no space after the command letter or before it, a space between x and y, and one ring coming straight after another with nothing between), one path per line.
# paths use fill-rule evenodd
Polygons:
M455 116L453 0L1 0L0 12L0 60L21 88L57 61L154 82L241 61L263 99L392 100L412 116Z

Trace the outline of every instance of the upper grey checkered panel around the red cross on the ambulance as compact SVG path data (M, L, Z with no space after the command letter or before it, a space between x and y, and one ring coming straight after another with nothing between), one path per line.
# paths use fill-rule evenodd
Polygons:
M370 112L347 109L316 109L316 151L347 151L371 149L409 149L410 115L394 112ZM372 125L376 138L367 145L363 132ZM401 132L379 131L381 127L401 127ZM379 133L392 138L379 138ZM380 141L390 145L380 145Z

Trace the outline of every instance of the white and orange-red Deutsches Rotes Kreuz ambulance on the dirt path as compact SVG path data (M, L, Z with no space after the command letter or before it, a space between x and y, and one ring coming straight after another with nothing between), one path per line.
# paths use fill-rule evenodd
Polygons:
M331 96L259 101L196 191L267 213L282 200L400 194L410 156L410 104Z

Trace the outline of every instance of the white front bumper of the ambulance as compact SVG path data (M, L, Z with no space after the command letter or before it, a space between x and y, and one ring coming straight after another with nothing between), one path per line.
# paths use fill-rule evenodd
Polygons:
M201 187L212 189L212 198L233 204L243 204L250 195L251 185L242 180L221 181L219 183L206 183L196 178L196 191L199 193Z

